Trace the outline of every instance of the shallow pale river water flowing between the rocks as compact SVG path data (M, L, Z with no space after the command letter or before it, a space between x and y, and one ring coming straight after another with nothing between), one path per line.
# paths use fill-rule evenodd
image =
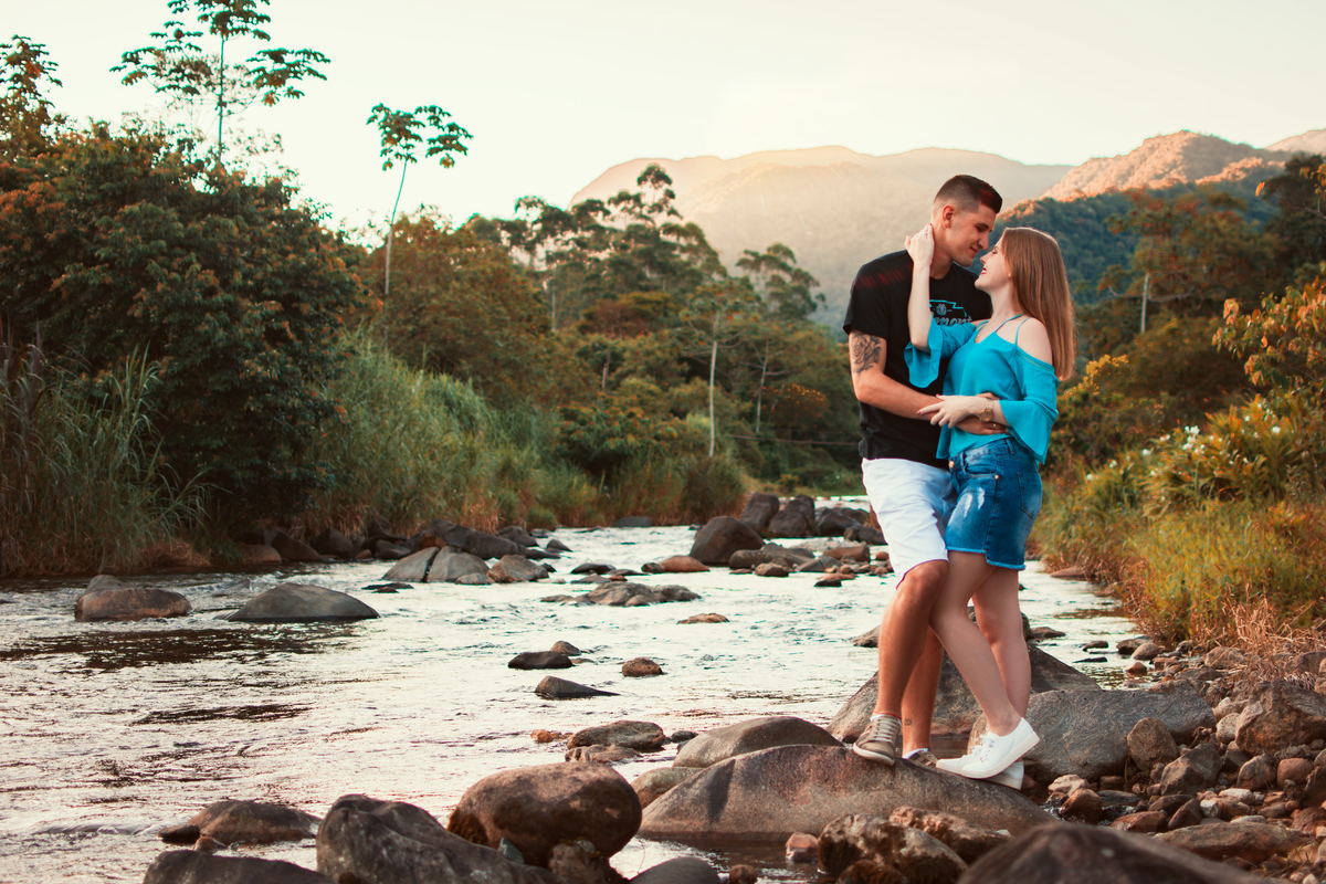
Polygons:
M579 562L639 569L686 553L692 533L562 529L556 537L574 550L554 563L554 579L568 579ZM896 582L861 577L815 588L812 574L774 579L716 569L634 578L687 586L697 602L610 608L542 603L573 588L549 582L366 588L389 567L125 578L176 590L194 604L191 616L138 623L74 622L86 579L0 583L0 881L141 881L167 850L159 828L225 798L322 815L339 795L362 793L419 804L446 822L480 778L562 759L565 744L537 744L534 729L634 718L668 733L703 732L768 714L826 725L875 669L875 652L849 639L879 623ZM285 580L350 592L381 618L217 619ZM1066 634L1041 647L1118 681L1113 643L1135 627L1086 583L1052 579L1036 563L1022 582L1032 624ZM678 623L704 612L729 623ZM618 696L548 701L533 693L546 672L507 668L513 655L560 639L585 656L554 675ZM1107 659L1079 663L1094 639L1111 643ZM664 675L623 679L622 663L638 656L656 660ZM670 744L617 769L634 779L675 755ZM316 865L312 842L237 852ZM740 859L772 877L814 879L808 867L782 865L781 848L719 855L636 839L613 863L631 876L688 854L720 869Z

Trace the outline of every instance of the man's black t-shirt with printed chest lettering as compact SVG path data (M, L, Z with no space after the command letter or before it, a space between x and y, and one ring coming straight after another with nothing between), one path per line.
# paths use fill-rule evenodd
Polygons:
M884 375L912 390L936 395L944 386L948 360L940 363L939 376L928 387L911 383L903 351L911 342L907 327L907 301L911 297L912 260L907 252L894 252L857 272L851 284L851 300L842 329L851 334L874 335L884 342ZM988 319L991 298L976 288L976 277L959 265L952 265L943 280L930 281L930 311L944 325L972 319ZM928 420L899 417L898 415L861 403L861 456L900 457L919 464L947 467L935 457L939 451L939 427Z

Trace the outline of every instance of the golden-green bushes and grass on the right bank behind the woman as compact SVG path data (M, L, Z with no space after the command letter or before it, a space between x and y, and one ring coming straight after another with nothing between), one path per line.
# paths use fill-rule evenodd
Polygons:
M1158 635L1235 641L1253 611L1326 624L1323 175L1290 160L1261 227L1225 196L1139 197L1115 221L1140 240L1114 278L1160 304L1146 331L1140 300L1085 310L1099 355L1061 395L1036 539Z

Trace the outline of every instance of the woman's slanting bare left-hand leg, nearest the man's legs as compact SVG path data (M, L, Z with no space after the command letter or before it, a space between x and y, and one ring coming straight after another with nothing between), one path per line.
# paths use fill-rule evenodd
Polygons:
M1002 737L1017 726L1022 716L1013 708L1004 688L994 652L980 627L967 618L967 602L993 570L980 553L951 551L948 579L935 603L930 624L981 705L991 732ZM1013 600L1016 603L1016 595ZM1021 630L1021 615L1018 615L1018 630Z

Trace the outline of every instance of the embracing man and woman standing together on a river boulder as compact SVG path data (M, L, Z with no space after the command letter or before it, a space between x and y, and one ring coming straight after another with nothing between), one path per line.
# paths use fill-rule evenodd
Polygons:
M879 628L879 697L858 755L936 763L930 726L941 649L988 730L941 770L1022 785L1038 742L1026 722L1032 668L1018 571L1041 508L1038 465L1075 359L1073 301L1058 244L1006 228L1002 199L957 175L906 249L861 268L843 330L861 403L862 477L900 575ZM976 608L976 623L967 604Z

